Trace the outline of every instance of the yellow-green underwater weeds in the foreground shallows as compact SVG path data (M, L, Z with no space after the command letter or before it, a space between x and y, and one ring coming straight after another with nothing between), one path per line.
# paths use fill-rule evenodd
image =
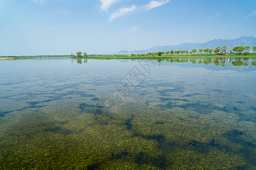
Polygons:
M101 115L34 109L1 118L1 169L255 168L255 123L234 113L142 103Z

